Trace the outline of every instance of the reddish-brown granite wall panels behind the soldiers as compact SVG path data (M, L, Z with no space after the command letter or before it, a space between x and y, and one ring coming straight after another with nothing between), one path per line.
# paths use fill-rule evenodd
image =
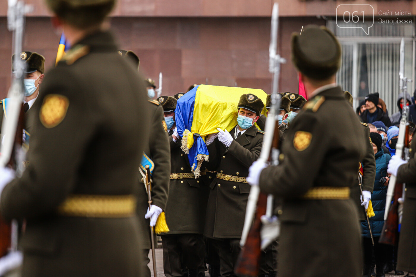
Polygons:
M290 34L308 23L324 24L316 17L280 19L279 48L288 61L282 65L280 91L297 92L297 74L290 63ZM114 17L111 26L122 49L141 59L144 77L163 73L163 94L184 92L191 84L250 87L270 93L268 72L270 18L267 17ZM54 65L59 35L48 17L27 18L24 49ZM0 17L0 97L10 86L11 34Z

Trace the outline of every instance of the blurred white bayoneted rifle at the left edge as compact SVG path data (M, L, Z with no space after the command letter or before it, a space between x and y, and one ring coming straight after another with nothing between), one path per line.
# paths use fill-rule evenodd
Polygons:
M25 152L22 148L23 79L25 78L26 65L20 58L20 53L22 52L25 14L31 10L32 7L25 5L23 0L8 0L7 28L13 32L12 47L15 56L12 61L14 76L7 94L7 119L5 116L3 117L1 129L0 166L13 168L16 171L16 176L21 176L24 170ZM22 262L22 254L17 251L17 235L16 220L9 223L0 218L0 275L18 267Z

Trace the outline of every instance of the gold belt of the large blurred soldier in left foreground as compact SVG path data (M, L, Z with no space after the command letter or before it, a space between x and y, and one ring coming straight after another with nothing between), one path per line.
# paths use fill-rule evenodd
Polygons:
M91 218L126 218L135 210L133 195L71 195L58 207L60 215Z

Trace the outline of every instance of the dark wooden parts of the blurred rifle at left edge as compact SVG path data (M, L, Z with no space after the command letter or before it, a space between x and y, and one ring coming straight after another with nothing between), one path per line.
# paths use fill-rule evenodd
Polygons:
M23 144L23 129L25 124L25 113L23 111L23 104L20 107L19 121L17 122L17 129L15 134L15 147ZM16 168L16 151L13 149L10 161L7 166L10 168ZM5 256L9 251L12 243L12 227L9 221L6 221L0 216L0 257Z

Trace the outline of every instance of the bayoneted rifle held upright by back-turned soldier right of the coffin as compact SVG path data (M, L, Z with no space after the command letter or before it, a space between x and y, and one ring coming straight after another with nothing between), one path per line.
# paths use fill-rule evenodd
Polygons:
M279 163L279 124L277 115L280 108L281 96L277 94L277 91L279 85L280 64L286 62L285 59L277 54L278 16L279 8L278 4L275 3L272 10L269 47L269 71L273 74L272 94L270 95L272 107L266 119L266 133L259 157L259 161L264 163L271 161L274 165ZM267 196L264 193L260 193L260 188L258 186L251 187L245 213L243 233L240 240L240 245L243 246L243 249L240 252L235 267L235 273L237 275L258 276L260 251L262 247L262 240L260 237L262 222L260 218L265 214L271 217L273 207L272 202L272 195ZM253 223L254 216L255 220Z

